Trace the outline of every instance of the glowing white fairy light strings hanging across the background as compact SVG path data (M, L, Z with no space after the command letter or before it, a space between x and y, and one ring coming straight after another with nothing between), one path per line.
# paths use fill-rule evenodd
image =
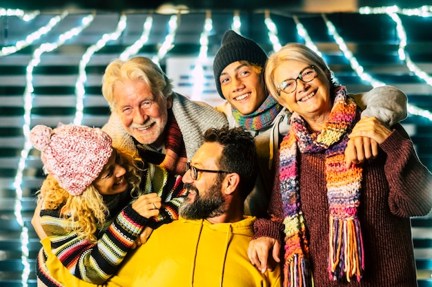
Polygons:
M360 14L387 14L391 19L395 22L395 28L397 31L397 37L399 40L399 49L398 54L401 61L403 61L406 64L406 67L408 67L409 71L412 72L415 76L418 76L424 83L427 85L432 86L432 78L424 72L418 65L416 65L413 61L411 61L411 58L409 57L409 54L405 51L406 47L406 32L404 30L404 25L402 23L402 20L400 19L399 15L406 15L411 17L432 17L432 6L422 6L420 8L410 8L410 9L402 9L398 8L397 6L390 6L390 7L362 7L359 9ZM37 11L23 11L19 9L6 9L6 8L0 8L0 17L17 17L21 19L22 21L32 21L36 19L41 12L39 10ZM68 12L64 11L59 13L58 15L54 15L46 25L43 25L41 28L35 30L34 32L30 32L25 39L21 39L14 43L14 45L8 45L1 47L0 50L0 60L1 57L8 56L10 54L14 54L19 52L20 50L23 50L24 48L35 45L37 41L41 38L41 36L49 34L52 32L52 30L65 19L65 17L68 16ZM26 159L28 158L28 154L30 152L30 149L32 148L30 144L30 127L31 127L31 111L32 111L32 100L35 97L34 94L34 87L33 87L33 71L37 65L41 62L41 55L43 53L49 53L53 52L54 50L57 50L61 45L64 45L69 39L72 39L73 37L79 35L82 31L84 31L88 26L92 23L92 21L95 19L96 14L93 12L88 15L84 15L81 19L81 23L77 25L76 27L71 28L70 30L64 32L63 34L59 34L57 41L53 43L42 43L38 47L35 48L34 52L32 52L31 60L28 63L26 67L26 88L25 92L23 94L23 105L24 105L24 114L23 114L23 135L24 135L24 146L21 150L21 156L19 159L19 165L17 168L17 173L14 178L14 189L16 189L16 196L15 196L15 206L14 206L14 213L17 217L17 222L19 222L20 226L22 227L21 232L21 242L22 242L22 263L23 263L23 273L21 275L21 281L23 286L27 286L28 277L30 274L30 264L28 261L28 229L26 228L23 216L21 214L22 206L21 206L21 200L23 197L23 190L21 188L21 185L23 183L23 171L26 166ZM179 26L181 13L173 14L170 16L168 23L167 23L167 32L166 36L164 37L164 41L159 45L159 49L157 53L153 56L152 60L159 64L159 61L161 59L164 59L166 54L174 47L175 42L175 36L177 32L177 28ZM297 28L297 34L300 36L306 45L308 47L311 47L311 49L315 50L318 54L322 54L320 50L318 50L316 43L313 42L311 39L311 36L309 36L308 31L306 28L304 28L304 25L302 25L300 21L300 17L297 17L295 15L290 16L292 17L293 21L295 22L296 28ZM328 20L325 14L322 14L322 18L324 22L326 23L328 34L331 35L337 43L339 49L344 54L344 57L348 60L348 62L351 65L351 68L353 71L359 76L364 83L369 83L373 87L377 87L380 85L386 85L386 83L383 83L382 81L378 81L377 79L373 78L371 74L368 74L364 71L364 68L360 63L355 59L355 56L353 55L353 52L351 52L348 49L348 45L346 45L344 39L340 34L337 33L337 29L335 28L335 25L331 23L331 21ZM141 48L146 45L148 42L150 32L153 28L153 14L149 13L146 16L146 21L144 21L143 25L143 31L139 38L136 39L131 45L128 47L125 47L123 52L119 55L120 59L128 59L130 56L134 56L139 53ZM279 32L277 29L277 25L275 22L271 19L271 12L266 10L264 12L264 24L266 25L266 28L268 30L268 40L273 45L273 51L279 50L282 45L279 40ZM75 98L76 98L76 113L74 118L74 123L79 125L82 123L83 117L84 117L84 99L86 96L86 81L87 81L87 74L86 74L86 67L88 67L88 63L90 63L90 60L92 59L92 56L94 56L95 53L97 53L99 50L101 50L103 47L108 45L110 41L115 41L119 39L121 34L124 32L127 26L127 16L126 13L121 13L119 17L119 21L117 23L117 28L114 32L103 34L101 35L100 39L94 43L93 45L90 45L86 51L81 56L81 61L79 62L79 72L77 76L77 81L75 83ZM235 32L241 34L240 30L242 27L242 21L241 17L238 11L233 12L233 23L231 25L231 29ZM208 37L213 32L213 19L212 14L210 11L206 11L206 18L204 20L204 25L202 28L202 33L199 36L199 55L197 56L197 61L195 64L195 70L193 70L193 82L194 82L194 89L193 94L191 95L192 98L197 98L199 96L199 93L202 92L203 87L203 81L199 79L199 75L204 74L203 73L203 65L205 61L208 61ZM424 118L428 118L429 120L432 120L432 113L431 111L427 111L424 109L420 109L419 107L415 107L413 105L408 106L409 113L422 116Z

